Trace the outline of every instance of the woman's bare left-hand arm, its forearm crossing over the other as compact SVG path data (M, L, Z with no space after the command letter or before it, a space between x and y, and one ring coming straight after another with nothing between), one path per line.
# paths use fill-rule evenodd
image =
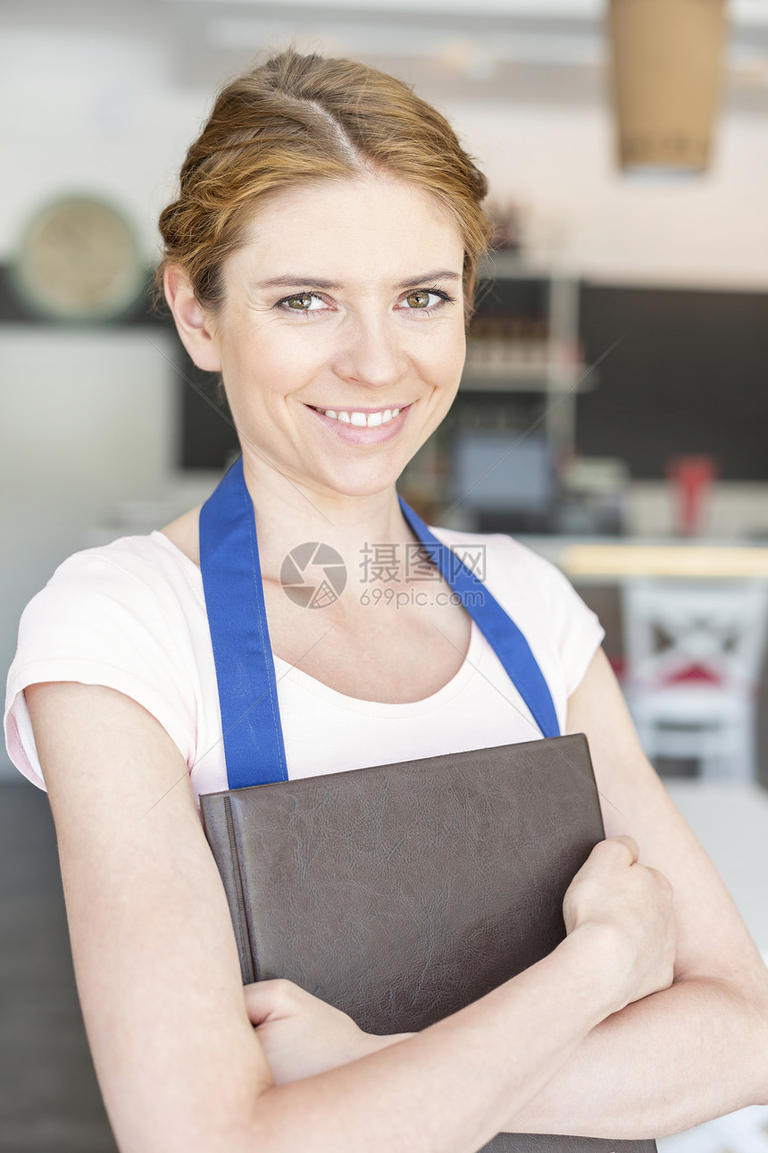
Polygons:
M662 950L628 978L637 958L647 964L652 936L630 944L587 917L549 957L454 1017L276 1086L245 1012L223 889L175 745L114 689L62 683L26 694L83 1015L122 1153L471 1153L599 1022L642 995L633 989L671 977ZM628 867L621 843L606 852L617 896L651 886L630 902L628 924L641 926L652 872Z

